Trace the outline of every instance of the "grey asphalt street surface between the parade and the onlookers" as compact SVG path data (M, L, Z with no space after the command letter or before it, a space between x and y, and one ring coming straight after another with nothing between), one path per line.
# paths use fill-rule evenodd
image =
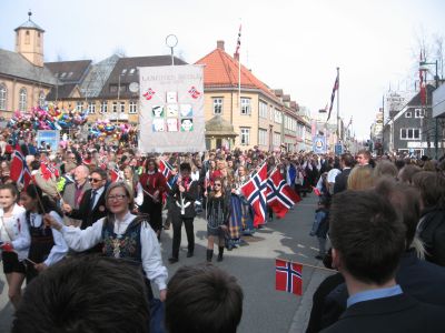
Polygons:
M304 332L312 306L312 296L329 272L303 268L303 296L275 291L275 259L283 258L306 264L323 264L317 254L317 240L309 236L317 199L305 198L285 219L274 220L254 236L245 238L247 244L225 251L221 263L214 264L236 276L245 294L243 320L238 332ZM182 228L179 262L169 264L172 230L161 236L162 258L171 276L182 264L197 264L206 260L206 222L195 220L195 256L187 259L187 238ZM217 253L217 250L215 251ZM1 268L2 272L2 268ZM4 275L0 274L0 332L9 332L13 309L8 300Z

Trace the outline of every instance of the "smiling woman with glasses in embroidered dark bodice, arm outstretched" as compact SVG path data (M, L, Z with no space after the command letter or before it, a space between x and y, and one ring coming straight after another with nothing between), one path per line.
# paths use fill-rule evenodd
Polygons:
M89 228L67 226L50 215L46 223L60 231L68 245L75 251L86 251L103 243L106 256L128 260L141 265L147 280L157 284L161 301L166 297L167 269L162 265L159 242L146 216L132 215L134 195L123 182L108 186L105 195L107 216L96 221ZM152 292L149 287L149 297Z

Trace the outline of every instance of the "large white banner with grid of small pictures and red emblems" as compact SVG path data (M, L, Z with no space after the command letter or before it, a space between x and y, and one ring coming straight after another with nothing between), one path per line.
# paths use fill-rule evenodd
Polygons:
M139 78L140 151L205 151L204 68L145 67Z

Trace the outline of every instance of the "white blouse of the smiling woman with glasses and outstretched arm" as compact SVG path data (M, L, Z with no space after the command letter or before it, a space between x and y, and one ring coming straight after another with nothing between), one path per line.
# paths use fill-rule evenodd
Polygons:
M115 233L118 235L123 234L135 218L136 215L128 212L121 221L116 220L113 229ZM61 233L72 250L86 251L102 241L102 226L105 219L106 218L98 220L85 230L80 230L80 228L75 228L72 225L62 225ZM141 225L140 244L142 269L147 279L155 282L159 290L167 289L168 272L166 266L162 264L158 239L148 223Z

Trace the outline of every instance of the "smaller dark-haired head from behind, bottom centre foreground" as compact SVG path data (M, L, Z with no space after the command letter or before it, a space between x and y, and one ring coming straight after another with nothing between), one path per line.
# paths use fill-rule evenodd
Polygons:
M166 326L170 333L235 333L243 316L236 279L210 264L182 266L168 283Z

